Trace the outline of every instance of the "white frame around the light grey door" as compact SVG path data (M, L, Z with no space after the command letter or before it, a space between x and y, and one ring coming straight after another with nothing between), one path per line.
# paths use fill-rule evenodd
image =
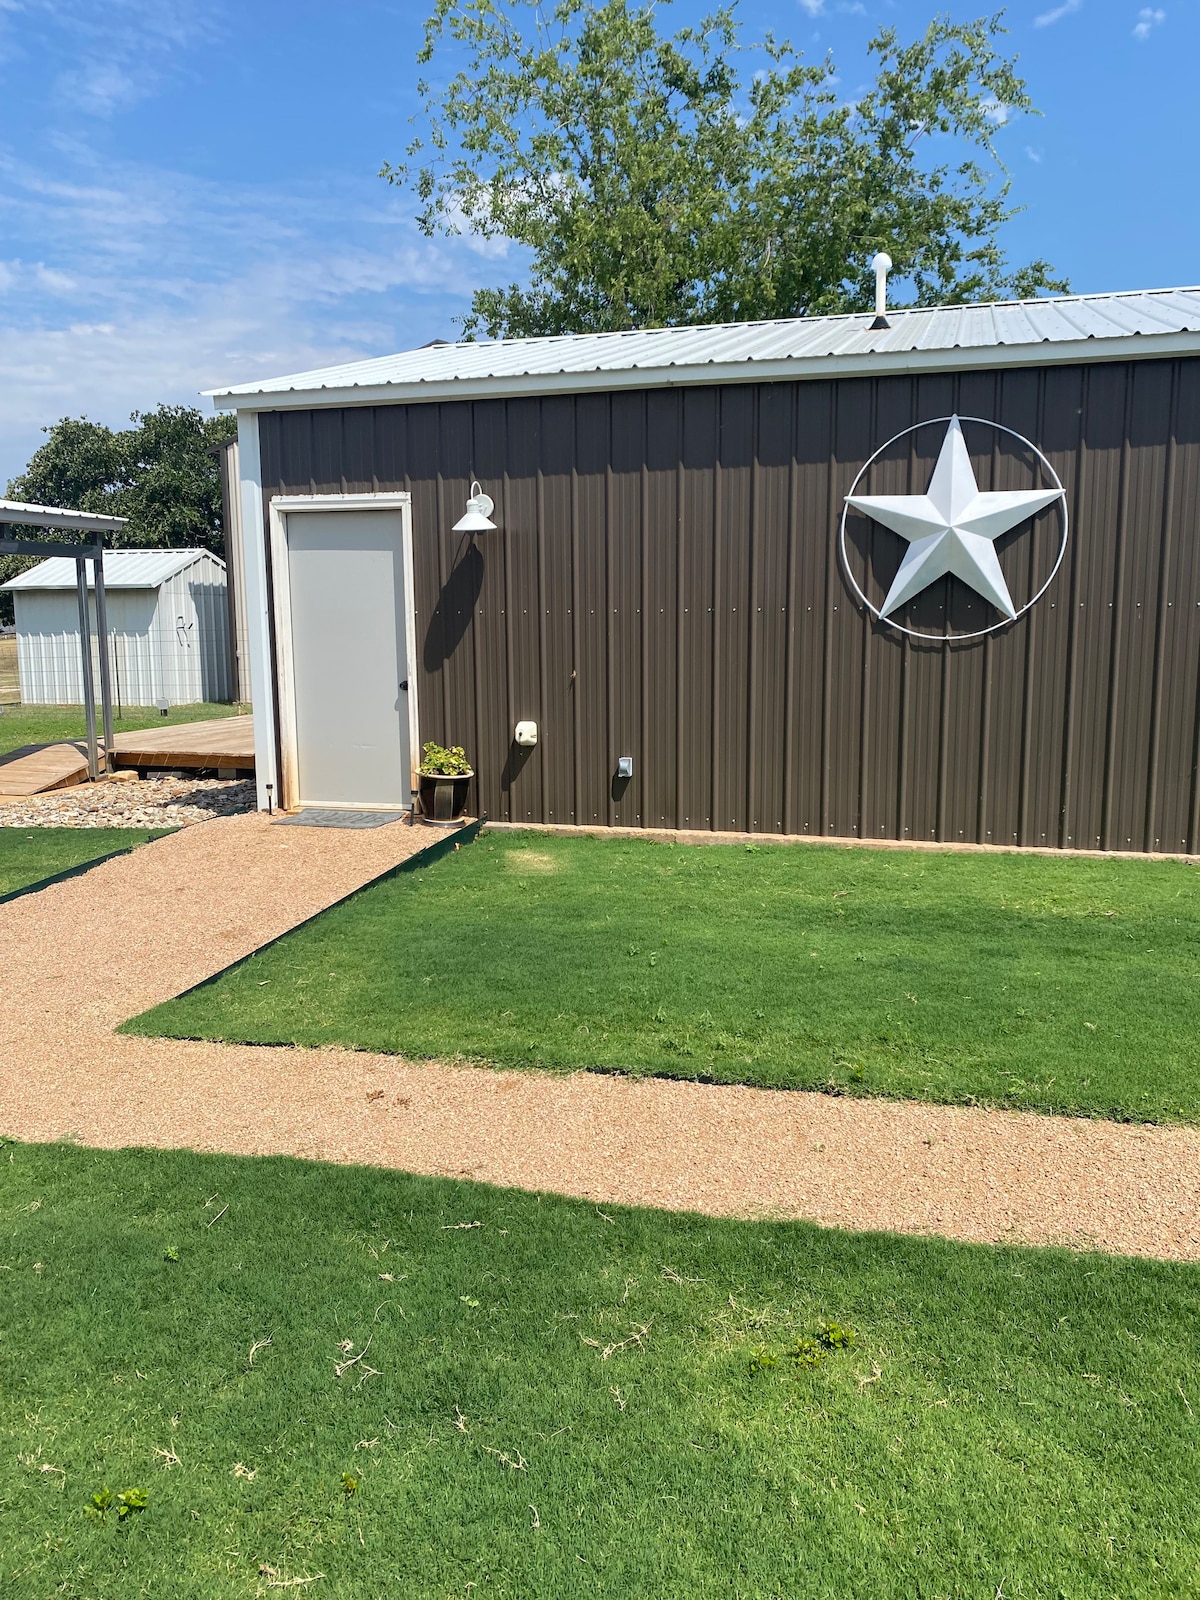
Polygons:
M288 512L306 510L398 510L400 565L405 594L405 674L408 677L408 784L416 794L419 765L416 704L416 594L413 584L413 496L389 494L277 494L270 501L270 566L275 592L275 690L278 698L280 806L293 811L299 805L299 768L296 752L296 669L291 650L291 566L288 550ZM362 810L382 810L362 806Z

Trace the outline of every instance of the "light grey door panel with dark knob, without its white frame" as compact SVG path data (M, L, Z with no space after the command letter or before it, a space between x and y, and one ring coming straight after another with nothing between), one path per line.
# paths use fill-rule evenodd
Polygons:
M400 510L290 510L299 805L411 803Z

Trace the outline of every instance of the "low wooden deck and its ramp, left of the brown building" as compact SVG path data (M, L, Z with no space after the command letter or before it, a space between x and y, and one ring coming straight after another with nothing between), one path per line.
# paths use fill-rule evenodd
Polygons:
M112 741L114 766L144 771L254 771L254 718L218 717L181 722L171 728L118 733ZM64 744L26 744L0 757L0 800L21 800L86 782L88 747L83 739Z

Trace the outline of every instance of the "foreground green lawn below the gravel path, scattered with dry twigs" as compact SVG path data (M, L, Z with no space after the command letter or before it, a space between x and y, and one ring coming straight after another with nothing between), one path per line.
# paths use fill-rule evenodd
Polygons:
M13 1600L1200 1594L1195 1267L0 1162Z

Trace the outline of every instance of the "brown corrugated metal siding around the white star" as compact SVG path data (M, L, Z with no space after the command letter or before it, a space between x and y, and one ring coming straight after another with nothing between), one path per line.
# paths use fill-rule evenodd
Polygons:
M870 619L837 554L862 462L960 413L1062 478L1066 560L968 643ZM965 424L981 488L1042 486ZM1106 850L1200 845L1200 360L264 413L264 494L410 490L422 738L530 822ZM859 486L928 486L944 426ZM470 480L499 531L451 533ZM1054 510L998 546L1016 605ZM848 520L875 605L902 542ZM963 584L899 621L965 632ZM539 744L512 730L534 718ZM634 778L614 779L621 755Z

